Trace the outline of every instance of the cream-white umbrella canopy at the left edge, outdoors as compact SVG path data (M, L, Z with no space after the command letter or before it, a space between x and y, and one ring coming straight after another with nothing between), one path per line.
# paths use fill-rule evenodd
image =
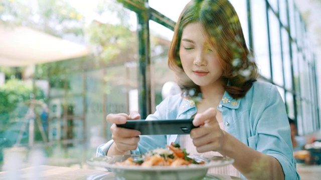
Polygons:
M0 66L27 66L89 54L89 49L53 35L25 27L0 24Z

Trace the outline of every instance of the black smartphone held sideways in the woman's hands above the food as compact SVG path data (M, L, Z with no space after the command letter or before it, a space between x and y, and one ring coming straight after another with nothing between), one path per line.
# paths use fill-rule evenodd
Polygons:
M117 124L118 127L136 129L141 135L161 134L189 134L193 128L193 119L173 120L127 120L125 124Z

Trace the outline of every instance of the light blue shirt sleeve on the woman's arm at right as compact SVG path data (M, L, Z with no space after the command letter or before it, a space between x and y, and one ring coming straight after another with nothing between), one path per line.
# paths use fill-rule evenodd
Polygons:
M271 84L267 92L265 103L261 101L254 104L256 109L262 110L258 110L260 113L256 114L256 133L251 138L256 141L256 150L279 161L285 179L300 179L293 158L285 104L275 85Z

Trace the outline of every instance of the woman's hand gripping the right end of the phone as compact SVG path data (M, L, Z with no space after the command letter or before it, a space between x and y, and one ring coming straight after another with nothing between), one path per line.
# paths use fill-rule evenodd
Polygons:
M216 109L209 108L195 115L191 138L198 152L219 151L224 145L224 132L216 119Z

